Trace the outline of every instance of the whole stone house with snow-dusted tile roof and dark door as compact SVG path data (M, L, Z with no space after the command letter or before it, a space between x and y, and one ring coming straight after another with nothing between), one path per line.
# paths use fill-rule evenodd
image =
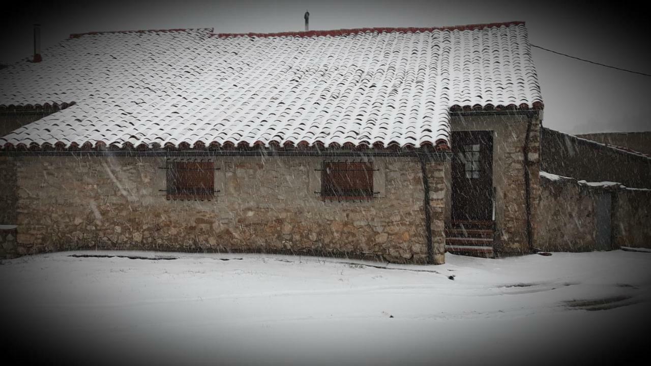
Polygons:
M519 21L71 35L0 70L0 254L531 253L542 107Z

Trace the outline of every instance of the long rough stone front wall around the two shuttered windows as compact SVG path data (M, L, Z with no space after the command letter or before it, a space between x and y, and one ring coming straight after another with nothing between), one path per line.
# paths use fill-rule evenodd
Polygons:
M110 248L427 259L417 158L370 159L380 194L364 202L324 202L314 193L324 158L215 157L220 192L212 201L167 201L165 158L15 160L20 254ZM428 163L437 263L444 261L446 167Z

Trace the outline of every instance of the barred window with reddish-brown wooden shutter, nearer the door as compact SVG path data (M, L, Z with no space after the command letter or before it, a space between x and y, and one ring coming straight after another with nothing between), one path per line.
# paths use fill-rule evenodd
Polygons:
M373 198L373 163L324 162L321 196L338 201Z

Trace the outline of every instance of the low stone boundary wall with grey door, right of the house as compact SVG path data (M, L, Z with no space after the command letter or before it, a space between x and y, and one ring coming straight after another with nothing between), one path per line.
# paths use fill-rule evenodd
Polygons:
M540 172L536 246L546 251L651 247L651 190Z

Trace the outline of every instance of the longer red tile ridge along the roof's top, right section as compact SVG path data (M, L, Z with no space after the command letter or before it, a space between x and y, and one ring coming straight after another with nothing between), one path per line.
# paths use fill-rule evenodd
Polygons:
M345 36L357 35L359 33L378 32L378 33L416 33L431 31L472 31L473 29L484 29L492 27L510 26L524 24L524 21L505 21L503 23L484 23L468 25L450 25L445 27L376 27L376 28L355 28L355 29L333 29L330 31L298 31L298 32L278 32L278 33L213 33L211 36L219 38L249 36L249 37L284 37L284 36Z

